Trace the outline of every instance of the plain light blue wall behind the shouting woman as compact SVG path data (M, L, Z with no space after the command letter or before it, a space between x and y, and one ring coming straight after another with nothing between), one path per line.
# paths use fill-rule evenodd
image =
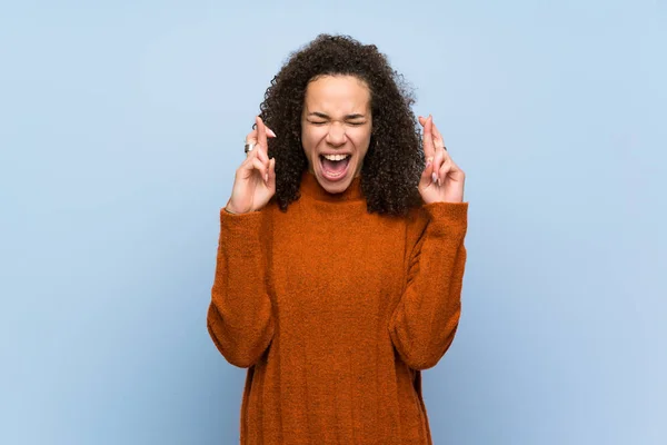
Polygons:
M53 3L0 7L1 444L237 443L218 211L323 31L378 44L468 174L436 444L667 443L665 2Z

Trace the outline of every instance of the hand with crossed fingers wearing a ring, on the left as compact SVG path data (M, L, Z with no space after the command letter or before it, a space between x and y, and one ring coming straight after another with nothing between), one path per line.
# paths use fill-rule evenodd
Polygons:
M267 136L276 134L258 116L257 127L248 134L246 142L256 144L237 169L231 197L225 207L232 214L247 214L263 208L276 194L276 159L267 155Z

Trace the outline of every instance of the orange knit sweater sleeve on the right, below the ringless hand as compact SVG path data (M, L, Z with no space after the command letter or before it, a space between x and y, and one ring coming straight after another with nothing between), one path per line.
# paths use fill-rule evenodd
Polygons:
M421 212L426 225L410 254L407 284L389 322L396 350L418 370L438 363L458 327L468 202L434 202Z

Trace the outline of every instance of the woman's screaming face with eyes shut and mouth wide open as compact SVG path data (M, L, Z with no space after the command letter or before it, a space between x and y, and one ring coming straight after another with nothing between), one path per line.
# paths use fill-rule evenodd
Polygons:
M308 168L330 194L345 191L361 172L372 129L370 90L352 76L322 76L308 83L301 144Z

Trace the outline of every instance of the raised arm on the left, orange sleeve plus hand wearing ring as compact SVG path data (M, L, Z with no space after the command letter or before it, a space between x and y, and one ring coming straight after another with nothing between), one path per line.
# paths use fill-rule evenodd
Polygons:
M220 210L216 277L207 326L213 343L229 363L252 366L267 350L275 330L267 290L267 246L270 218L262 208L276 191L273 159L267 156L267 136L276 135L262 120L246 141L247 158L237 169L231 197Z

